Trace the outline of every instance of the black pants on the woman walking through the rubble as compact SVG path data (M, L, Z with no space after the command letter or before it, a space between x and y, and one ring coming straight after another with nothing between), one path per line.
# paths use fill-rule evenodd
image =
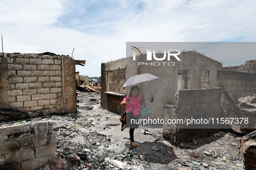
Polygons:
M131 121L131 119L133 119ZM131 142L134 142L133 135L134 135L134 129L139 128L139 116L134 117L133 112L126 113L126 127L130 127L130 139Z

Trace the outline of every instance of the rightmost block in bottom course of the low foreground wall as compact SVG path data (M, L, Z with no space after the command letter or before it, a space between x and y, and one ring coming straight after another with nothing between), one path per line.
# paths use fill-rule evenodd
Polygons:
M21 170L36 170L40 167L45 167L48 164L49 158L35 158L21 163Z

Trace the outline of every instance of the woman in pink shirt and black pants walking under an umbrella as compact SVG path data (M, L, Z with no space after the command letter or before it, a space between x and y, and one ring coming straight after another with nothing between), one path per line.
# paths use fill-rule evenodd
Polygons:
M121 102L121 106L126 105L126 125L122 124L121 130L123 131L126 127L130 127L130 143L133 147L136 147L133 139L134 129L139 127L139 104L143 105L144 99L144 96L139 96L139 87L132 86L129 96L126 96ZM131 122L132 119L135 121L134 123Z

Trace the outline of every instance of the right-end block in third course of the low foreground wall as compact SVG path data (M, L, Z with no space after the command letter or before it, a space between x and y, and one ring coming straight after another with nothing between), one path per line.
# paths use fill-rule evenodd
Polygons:
M36 148L36 157L54 157L56 151L56 145L52 146L39 146Z

